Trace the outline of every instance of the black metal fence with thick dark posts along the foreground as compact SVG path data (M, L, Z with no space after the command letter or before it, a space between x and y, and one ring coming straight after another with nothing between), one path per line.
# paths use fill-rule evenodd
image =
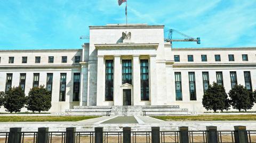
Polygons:
M103 131L95 128L91 132L77 132L76 128L67 128L63 132L51 132L49 128L38 128L37 132L22 132L21 128L10 128L10 132L0 132L0 143L256 143L256 130L246 130L244 126L235 126L233 131L218 131L217 127L206 127L204 131L189 131L188 127L179 127L178 131L160 131L152 127L151 131Z

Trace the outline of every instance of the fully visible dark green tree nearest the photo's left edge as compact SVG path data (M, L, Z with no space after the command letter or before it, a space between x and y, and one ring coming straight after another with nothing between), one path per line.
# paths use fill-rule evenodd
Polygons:
M8 112L20 112L21 108L25 106L27 98L21 87L10 88L4 95L4 107Z

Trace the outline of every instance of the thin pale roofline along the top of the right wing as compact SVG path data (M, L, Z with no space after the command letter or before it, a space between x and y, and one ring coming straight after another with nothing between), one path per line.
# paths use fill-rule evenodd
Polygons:
M207 48L172 48L172 51L212 51L212 50L256 50L256 47L223 47L223 48L214 48L214 47L207 47Z

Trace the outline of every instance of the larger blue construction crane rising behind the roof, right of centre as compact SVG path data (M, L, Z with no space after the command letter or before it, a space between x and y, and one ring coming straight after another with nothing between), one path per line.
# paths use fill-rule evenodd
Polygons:
M185 35L184 33L181 33L180 31L174 30L174 29L170 29L170 30L166 30L166 32L169 32L168 38L164 39L167 42L171 42L172 41L196 41L197 44L201 44L201 40L199 37L197 37L196 39L190 36ZM186 37L186 39L172 39L172 33L173 32L177 32L179 33L179 35L182 35L184 37Z

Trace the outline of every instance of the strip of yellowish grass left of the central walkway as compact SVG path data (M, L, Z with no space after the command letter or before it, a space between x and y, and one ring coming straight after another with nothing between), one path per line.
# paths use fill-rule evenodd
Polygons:
M0 116L0 122L57 122L81 121L100 116Z

